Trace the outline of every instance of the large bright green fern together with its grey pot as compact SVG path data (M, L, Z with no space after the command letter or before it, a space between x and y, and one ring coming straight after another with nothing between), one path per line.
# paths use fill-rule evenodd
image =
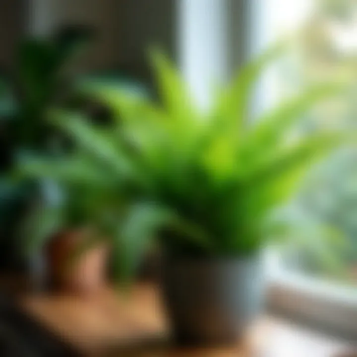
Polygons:
M342 141L317 131L288 140L302 115L337 93L334 85L309 88L247 120L253 85L277 52L244 66L209 113L192 105L178 71L154 52L158 102L106 91L98 96L117 114L113 128L99 130L73 116L54 120L94 158L91 171L109 170L117 188L126 182L135 192L115 239L119 270L131 276L148 240L158 239L163 295L182 343L231 343L241 335L261 307L261 254L272 242L271 214ZM51 176L48 164L27 162L23 169Z

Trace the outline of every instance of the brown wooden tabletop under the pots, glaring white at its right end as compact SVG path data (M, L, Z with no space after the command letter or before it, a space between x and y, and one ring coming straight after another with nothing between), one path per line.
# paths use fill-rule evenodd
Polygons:
M262 317L237 347L179 350L167 342L160 299L150 285L135 287L126 296L109 288L86 298L27 296L21 305L83 356L345 357L352 350L351 345L273 317Z

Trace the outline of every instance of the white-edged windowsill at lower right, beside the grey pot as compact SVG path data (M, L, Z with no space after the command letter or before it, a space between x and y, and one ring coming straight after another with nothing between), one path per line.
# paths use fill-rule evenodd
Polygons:
M357 340L357 290L275 269L269 279L268 306L277 313Z

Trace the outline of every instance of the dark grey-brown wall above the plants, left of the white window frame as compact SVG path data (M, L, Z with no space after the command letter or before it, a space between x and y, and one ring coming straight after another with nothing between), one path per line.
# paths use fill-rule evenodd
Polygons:
M33 33L50 32L61 23L98 28L95 46L78 65L81 70L124 69L149 76L147 49L159 44L176 53L177 0L31 0Z

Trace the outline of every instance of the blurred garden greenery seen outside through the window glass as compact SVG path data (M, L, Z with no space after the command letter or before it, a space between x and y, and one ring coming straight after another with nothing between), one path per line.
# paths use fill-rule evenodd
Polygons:
M282 93L336 78L356 83L357 1L316 3L317 10L298 36L294 53L281 64ZM341 126L356 128L356 114L356 91L352 90L348 96L324 103L311 115L320 129L334 130ZM301 127L302 132L311 129ZM296 234L301 236L299 246L292 246L285 254L288 269L357 285L356 163L356 148L338 152L311 173L299 197L284 212L286 219L299 227ZM329 244L326 235L331 238Z

